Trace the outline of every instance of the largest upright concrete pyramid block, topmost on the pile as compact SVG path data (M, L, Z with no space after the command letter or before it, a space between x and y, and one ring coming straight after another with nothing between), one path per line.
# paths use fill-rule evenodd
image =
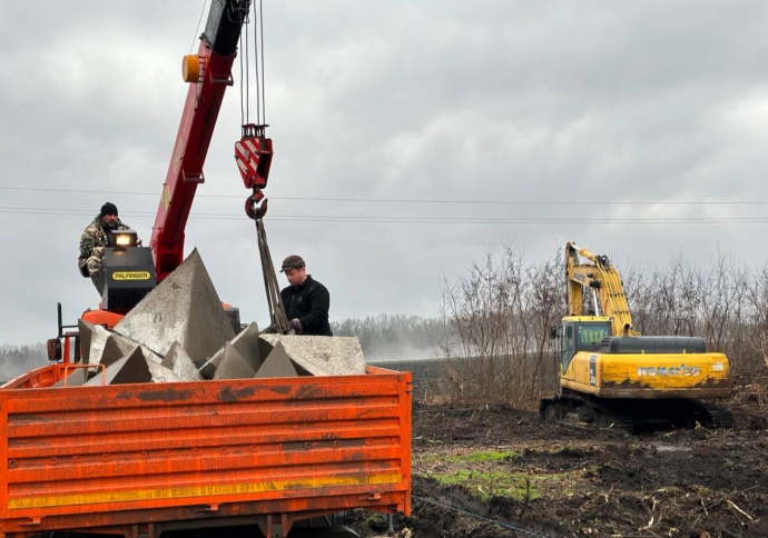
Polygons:
M163 357L178 341L193 361L211 357L235 337L197 249L114 330Z

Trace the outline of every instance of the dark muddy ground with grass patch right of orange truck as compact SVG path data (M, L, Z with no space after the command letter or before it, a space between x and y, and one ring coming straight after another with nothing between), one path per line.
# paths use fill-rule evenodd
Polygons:
M535 410L413 409L401 537L768 537L768 375L737 379L728 429L631 435ZM358 514L362 536L386 520Z

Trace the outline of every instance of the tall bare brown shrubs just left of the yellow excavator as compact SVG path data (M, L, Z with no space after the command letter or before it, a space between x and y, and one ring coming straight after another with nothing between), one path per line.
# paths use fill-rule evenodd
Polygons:
M526 266L506 247L469 275L443 277L446 358L437 390L454 401L519 405L553 383L549 326L564 310L560 261Z

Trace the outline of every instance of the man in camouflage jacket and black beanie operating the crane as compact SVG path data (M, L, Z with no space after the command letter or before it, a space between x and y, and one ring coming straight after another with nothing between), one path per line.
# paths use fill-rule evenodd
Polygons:
M107 202L92 222L82 230L80 236L80 257L77 260L80 275L90 277L99 295L104 295L104 249L111 247L112 231L130 230L117 218L117 206Z

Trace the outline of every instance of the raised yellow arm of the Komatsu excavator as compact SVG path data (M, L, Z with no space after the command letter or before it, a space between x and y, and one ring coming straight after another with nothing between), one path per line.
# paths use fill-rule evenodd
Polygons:
M569 315L584 313L584 288L590 288L593 291L594 315L612 318L613 336L640 336L632 329L632 315L619 271L607 256L593 255L569 242L565 246L565 281Z

